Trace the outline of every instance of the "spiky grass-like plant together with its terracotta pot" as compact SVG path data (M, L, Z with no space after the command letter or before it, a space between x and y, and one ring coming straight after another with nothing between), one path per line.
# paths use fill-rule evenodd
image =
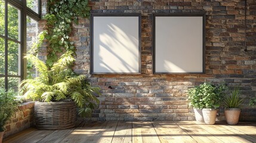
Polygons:
M239 94L240 91L238 88L235 88L232 91L232 94L228 97L226 97L226 99L224 100L224 105L225 105L225 116L226 116L226 120L227 123L229 125L236 125L238 124L238 120L239 120L239 115L240 115L240 104L242 104L243 99L239 99Z

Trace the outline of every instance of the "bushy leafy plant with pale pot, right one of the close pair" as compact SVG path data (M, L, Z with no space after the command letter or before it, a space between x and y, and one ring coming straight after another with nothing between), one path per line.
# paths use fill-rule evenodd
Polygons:
M227 86L212 85L211 83L203 83L203 120L208 125L214 125L217 116L217 108L220 107L220 103L224 97L224 91L226 91Z

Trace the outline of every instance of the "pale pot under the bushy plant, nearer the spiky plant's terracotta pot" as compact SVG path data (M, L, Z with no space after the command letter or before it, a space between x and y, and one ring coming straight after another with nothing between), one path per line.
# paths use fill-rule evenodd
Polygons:
M217 109L215 108L203 108L203 120L208 125L214 125L217 115Z

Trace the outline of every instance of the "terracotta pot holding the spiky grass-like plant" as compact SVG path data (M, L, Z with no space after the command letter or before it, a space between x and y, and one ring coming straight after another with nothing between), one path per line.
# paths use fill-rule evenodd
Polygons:
M224 110L224 113L226 116L227 123L229 125L238 124L240 112L241 112L240 108L226 108Z

